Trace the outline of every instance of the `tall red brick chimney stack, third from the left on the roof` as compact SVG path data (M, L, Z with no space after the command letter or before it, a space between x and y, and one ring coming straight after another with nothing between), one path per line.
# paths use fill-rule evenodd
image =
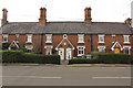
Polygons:
M91 18L91 8L85 8L85 24L91 24L92 23L92 18Z

